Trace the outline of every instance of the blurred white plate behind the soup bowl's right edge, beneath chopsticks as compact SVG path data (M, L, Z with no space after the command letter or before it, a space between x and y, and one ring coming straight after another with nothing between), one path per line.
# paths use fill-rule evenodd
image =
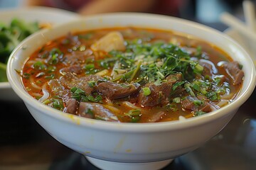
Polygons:
M250 57L252 57L252 60L256 65L256 40L249 40L245 35L242 35L242 33L233 28L228 28L224 31L224 33L230 36L230 38L233 38L233 40L235 40L236 42L238 42L238 44L243 47L243 49L250 55Z

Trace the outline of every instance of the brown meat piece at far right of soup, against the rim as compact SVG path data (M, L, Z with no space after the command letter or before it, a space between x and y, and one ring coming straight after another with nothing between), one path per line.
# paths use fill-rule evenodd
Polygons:
M242 79L244 77L244 72L239 67L238 62L228 62L225 64L225 69L230 75L230 77L233 79L233 84L238 85L242 83Z

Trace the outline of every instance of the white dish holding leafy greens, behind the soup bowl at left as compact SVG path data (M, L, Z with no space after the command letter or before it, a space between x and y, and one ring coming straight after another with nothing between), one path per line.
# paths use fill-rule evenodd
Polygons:
M53 25L65 23L79 18L77 13L64 11L58 8L33 6L26 8L7 8L0 10L0 22L9 24L13 18L23 21L50 23ZM11 89L9 82L0 82L0 101L21 101Z

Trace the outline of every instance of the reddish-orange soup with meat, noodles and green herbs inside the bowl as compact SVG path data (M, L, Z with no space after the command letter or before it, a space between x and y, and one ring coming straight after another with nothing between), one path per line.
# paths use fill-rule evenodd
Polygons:
M105 28L68 34L33 52L28 94L70 114L154 123L207 114L232 102L241 65L213 44L170 30Z

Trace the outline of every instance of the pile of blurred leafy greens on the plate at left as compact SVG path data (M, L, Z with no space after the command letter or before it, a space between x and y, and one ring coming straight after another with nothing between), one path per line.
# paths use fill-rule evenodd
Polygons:
M0 82L7 81L6 63L11 52L19 42L37 30L37 22L26 23L18 18L14 18L9 25L0 23Z

